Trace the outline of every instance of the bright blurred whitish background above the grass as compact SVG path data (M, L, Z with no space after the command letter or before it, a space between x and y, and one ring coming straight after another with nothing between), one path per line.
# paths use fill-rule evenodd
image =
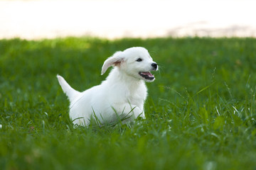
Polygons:
M0 0L0 39L256 37L253 0Z

